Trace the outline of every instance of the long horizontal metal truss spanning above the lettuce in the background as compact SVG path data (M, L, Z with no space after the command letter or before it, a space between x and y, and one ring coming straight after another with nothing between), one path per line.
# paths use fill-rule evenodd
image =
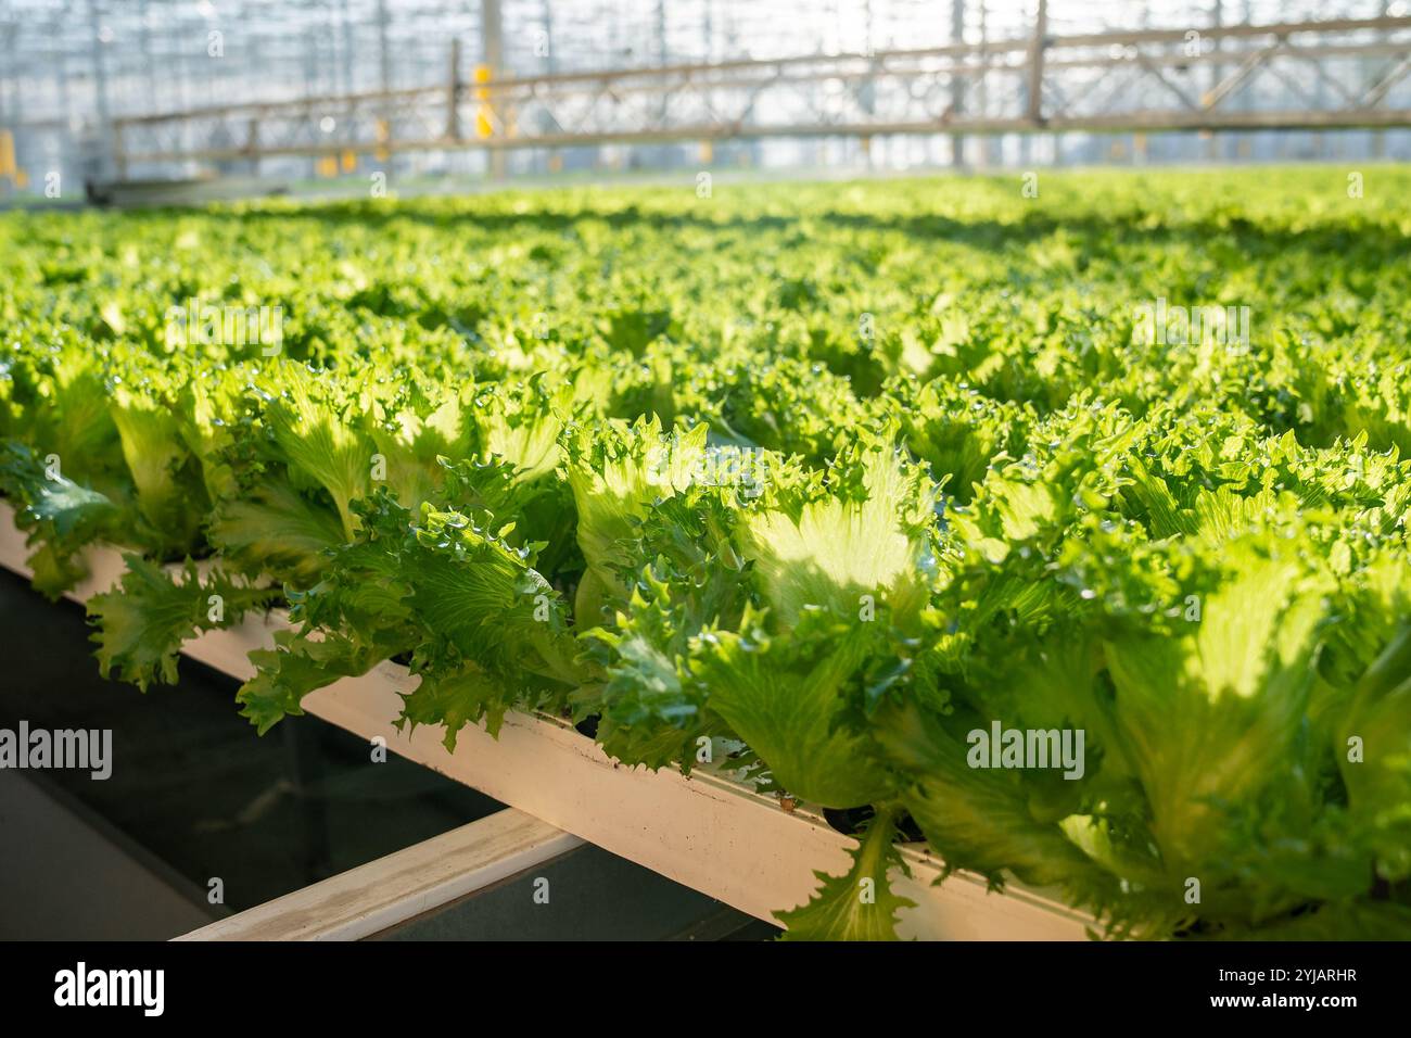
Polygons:
M763 137L1411 126L1411 17L1026 38L222 105L114 120L120 171Z

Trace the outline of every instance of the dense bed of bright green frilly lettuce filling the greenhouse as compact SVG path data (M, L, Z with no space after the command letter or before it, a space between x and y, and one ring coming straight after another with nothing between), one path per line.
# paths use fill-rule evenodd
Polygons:
M1411 229L1266 181L14 216L0 489L48 595L127 551L110 676L288 606L261 733L399 660L447 748L540 709L869 809L796 936L893 936L920 837L1109 935L1405 938Z

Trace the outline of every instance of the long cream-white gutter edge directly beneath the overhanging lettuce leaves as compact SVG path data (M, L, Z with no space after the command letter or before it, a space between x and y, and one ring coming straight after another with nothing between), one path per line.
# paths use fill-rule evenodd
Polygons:
M14 510L0 501L0 565L28 576L28 554ZM113 586L124 569L113 548L90 549L86 562L89 579L69 595L78 602ZM182 651L246 681L254 672L248 654L270 648L274 631L288 626L278 612L247 616L241 626L202 634ZM687 777L619 764L559 719L512 713L498 739L467 726L456 751L447 753L440 729L399 732L392 724L398 693L413 681L405 667L384 662L310 693L303 709L364 739L381 737L402 757L759 919L776 922L775 911L804 902L817 887L814 870L847 869L854 840L807 805L786 811L779 799L720 771ZM941 861L913 846L903 857L912 876L892 880L916 902L899 917L903 936L1067 941L1082 939L1092 925L1082 912L1017 884L991 893L983 878L955 873L935 885Z

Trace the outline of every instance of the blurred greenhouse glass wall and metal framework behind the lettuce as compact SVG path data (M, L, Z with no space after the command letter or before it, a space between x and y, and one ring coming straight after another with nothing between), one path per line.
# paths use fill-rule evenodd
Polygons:
M0 196L1411 157L1405 0L0 0Z

